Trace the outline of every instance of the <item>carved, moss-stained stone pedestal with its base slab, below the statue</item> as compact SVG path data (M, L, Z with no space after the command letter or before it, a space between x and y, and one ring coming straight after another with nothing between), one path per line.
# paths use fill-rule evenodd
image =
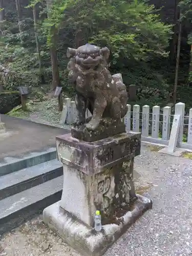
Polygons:
M63 163L62 198L44 210L44 222L82 255L102 255L152 207L151 200L135 195L133 184L140 137L122 133L85 142L68 134L56 139ZM93 229L96 209L102 219L98 233Z

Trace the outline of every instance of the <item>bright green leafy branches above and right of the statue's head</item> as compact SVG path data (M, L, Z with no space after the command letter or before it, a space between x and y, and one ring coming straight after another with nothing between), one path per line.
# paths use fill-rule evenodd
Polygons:
M142 1L101 1L94 16L99 23L93 42L108 46L114 60L150 60L154 56L167 56L166 47L171 27L152 14L154 6ZM106 22L107 20L107 22ZM103 30L103 24L104 30Z

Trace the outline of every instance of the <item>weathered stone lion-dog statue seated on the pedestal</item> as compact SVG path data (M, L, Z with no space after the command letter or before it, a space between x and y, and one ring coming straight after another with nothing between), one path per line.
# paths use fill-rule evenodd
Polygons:
M84 45L78 49L68 48L69 80L76 90L76 125L86 123L86 109L92 119L86 123L94 131L102 118L119 121L127 112L127 92L121 74L111 75L108 70L108 48Z

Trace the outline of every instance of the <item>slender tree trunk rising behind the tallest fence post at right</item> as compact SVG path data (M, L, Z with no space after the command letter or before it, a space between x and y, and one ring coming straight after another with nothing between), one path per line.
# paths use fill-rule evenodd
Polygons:
M176 100L177 100L177 85L178 85L179 59L180 59L180 48L181 48L181 30L182 30L182 23L181 23L181 20L179 20L179 35L178 35L178 43L177 43L177 58L176 58L175 84L174 84L174 95L173 95L174 103L176 103Z

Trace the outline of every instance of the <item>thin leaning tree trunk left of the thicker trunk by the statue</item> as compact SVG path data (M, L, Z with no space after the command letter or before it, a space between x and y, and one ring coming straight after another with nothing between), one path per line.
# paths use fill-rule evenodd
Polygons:
M44 83L44 76L42 72L42 66L41 66L41 56L40 56L40 45L38 40L38 32L37 32L37 11L36 11L36 5L33 7L33 20L34 20L34 30L35 30L35 41L36 41L36 50L37 50L37 58L39 63L39 80L41 83Z

